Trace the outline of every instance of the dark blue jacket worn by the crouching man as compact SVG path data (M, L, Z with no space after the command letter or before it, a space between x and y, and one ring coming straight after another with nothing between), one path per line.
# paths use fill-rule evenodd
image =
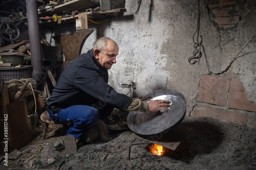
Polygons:
M62 71L48 100L47 111L56 114L73 105L100 109L106 103L124 111L132 99L116 92L108 79L108 70L100 65L93 50L81 54Z

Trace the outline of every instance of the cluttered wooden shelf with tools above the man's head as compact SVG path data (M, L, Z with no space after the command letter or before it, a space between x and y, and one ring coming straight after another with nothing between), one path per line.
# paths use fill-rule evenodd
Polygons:
M51 2L51 1L50 1ZM41 25L51 25L53 23L74 22L81 16L87 15L86 19L104 19L109 16L116 16L126 12L124 4L115 4L114 9L110 4L103 4L101 1L95 3L91 0L72 0L67 3L48 4L38 9L39 23ZM123 2L123 1L121 1ZM83 15L81 15L83 13ZM91 20L90 20L91 21ZM97 22L97 21L96 21Z

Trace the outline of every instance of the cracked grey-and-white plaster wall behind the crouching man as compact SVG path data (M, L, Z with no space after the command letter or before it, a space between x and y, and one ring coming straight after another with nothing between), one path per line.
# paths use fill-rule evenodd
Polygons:
M232 6L220 7L237 11L240 16L238 23L225 27L212 12L212 5L222 1L199 2L199 34L203 38L199 64L188 62L195 50L193 37L199 13L196 0L145 0L138 14L137 0L125 1L127 12L123 15L98 25L89 22L89 30L94 32L84 43L82 53L90 50L97 38L112 38L119 45L119 55L109 70L110 85L126 94L129 89L121 84L135 82L133 97L164 88L177 90L186 98L187 115L198 105L203 75L240 79L248 100L256 103L256 3L236 1Z

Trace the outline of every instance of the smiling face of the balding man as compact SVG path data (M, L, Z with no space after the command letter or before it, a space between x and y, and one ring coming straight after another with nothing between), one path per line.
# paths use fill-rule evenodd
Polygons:
M118 55L118 51L118 45L115 42L109 40L108 45L106 45L105 49L103 50L103 54L95 49L94 55L103 68L110 69L112 65L116 63L116 56Z

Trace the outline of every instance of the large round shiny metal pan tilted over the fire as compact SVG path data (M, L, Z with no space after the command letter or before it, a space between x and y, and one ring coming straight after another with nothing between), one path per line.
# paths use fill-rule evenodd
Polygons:
M144 96L148 98L145 102L151 100L169 100L172 106L164 111L155 112L129 112L127 116L128 127L138 135L154 135L163 131L169 131L177 127L183 120L186 111L186 101L184 96L171 89L162 89L154 91Z

